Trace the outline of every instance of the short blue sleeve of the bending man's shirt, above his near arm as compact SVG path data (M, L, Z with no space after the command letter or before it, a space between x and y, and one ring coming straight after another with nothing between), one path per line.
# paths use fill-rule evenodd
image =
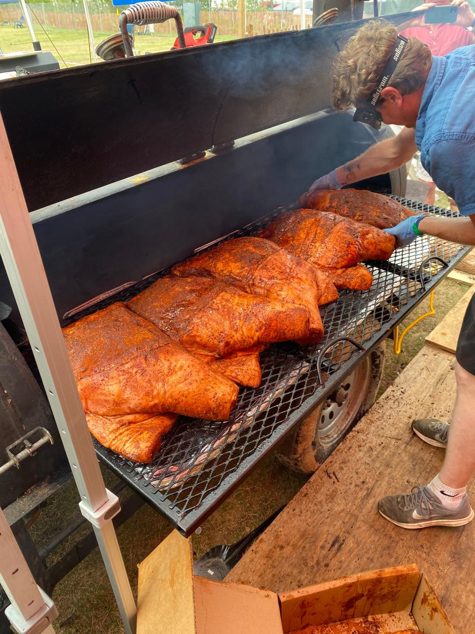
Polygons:
M440 190L455 200L462 216L475 214L473 134L434 140L421 156L422 165Z

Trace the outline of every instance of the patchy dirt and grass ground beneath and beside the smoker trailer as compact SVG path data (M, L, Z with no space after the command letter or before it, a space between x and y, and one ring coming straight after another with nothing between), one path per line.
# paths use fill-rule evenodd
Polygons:
M450 308L464 295L467 287L445 280L436 289L435 316L423 320L405 337L403 351L395 356L392 342L388 340L386 370L381 391L390 385L410 359L424 346L424 337ZM419 314L427 311L428 299L413 311L403 323L409 325ZM115 482L115 476L103 469L107 486ZM210 548L220 544L231 544L258 526L275 510L288 503L307 481L306 475L286 469L276 458L268 456L253 474L225 501L225 503L203 524L201 533L193 536L194 557L198 558ZM128 495L125 493L125 495ZM75 486L70 483L57 495L50 498L30 531L34 540L42 545L49 541L61 527L79 517L79 498ZM89 530L85 524L49 558L49 564ZM132 588L136 588L137 564L148 555L170 531L167 522L148 505L118 529L118 540L124 555ZM115 600L101 557L96 550L72 573L56 586L53 598L60 610L55 629L61 634L119 634L123 631ZM61 626L62 624L62 626Z

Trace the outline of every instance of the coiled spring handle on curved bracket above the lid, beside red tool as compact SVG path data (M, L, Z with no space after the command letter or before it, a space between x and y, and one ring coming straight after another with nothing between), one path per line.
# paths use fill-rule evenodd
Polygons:
M185 36L183 33L183 24L181 16L174 6L165 4L158 1L139 2L132 4L128 9L122 11L120 14L120 32L122 33L122 40L124 41L125 56L133 57L134 51L132 50L132 42L130 41L129 31L127 30L127 24L135 24L139 27L144 24L158 24L160 22L167 22L174 18L177 25L178 41L180 42L180 48L186 48Z

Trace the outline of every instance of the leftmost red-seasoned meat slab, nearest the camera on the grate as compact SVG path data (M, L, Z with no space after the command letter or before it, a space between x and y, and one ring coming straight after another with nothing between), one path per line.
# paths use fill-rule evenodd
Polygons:
M151 460L171 413L226 420L236 404L236 384L120 302L63 336L89 430L132 460Z

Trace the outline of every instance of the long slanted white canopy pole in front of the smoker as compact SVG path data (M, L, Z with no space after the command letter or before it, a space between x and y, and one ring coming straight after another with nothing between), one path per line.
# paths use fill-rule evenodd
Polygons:
M0 256L79 490L80 510L94 527L125 631L134 634L136 605L111 524L120 505L104 486L1 115L0 174Z

